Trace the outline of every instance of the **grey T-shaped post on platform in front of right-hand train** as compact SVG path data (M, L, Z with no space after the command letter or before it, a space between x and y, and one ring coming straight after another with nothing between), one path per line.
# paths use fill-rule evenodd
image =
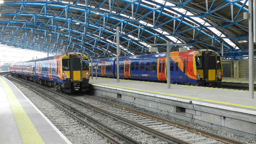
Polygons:
M166 42L166 44L149 44L150 46L165 46L166 45L166 67L167 67L167 88L171 88L171 73L170 73L170 46L187 46L187 44L180 43L170 43Z

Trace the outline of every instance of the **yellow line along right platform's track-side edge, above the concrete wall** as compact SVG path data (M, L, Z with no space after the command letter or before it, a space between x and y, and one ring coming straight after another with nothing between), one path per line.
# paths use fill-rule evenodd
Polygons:
M94 82L90 82L90 83L94 83ZM110 84L103 84L103 83L94 83L94 84L102 84L102 85L112 86L112 87L120 87L120 88L126 88L126 89L131 89L131 90L145 91L145 92L151 92L151 93L156 93L156 94L163 94L163 95L177 96L177 97L181 97L181 98L196 99L196 100L200 100L200 101L207 101L207 102L221 103L221 104L231 105L231 106L239 106L239 107L246 107L246 108L256 109L256 107L255 107L255 106L247 106L247 105L240 105L240 104L235 104L235 103L220 102L220 101L212 101L212 100L208 100L208 99L194 98L194 97L190 97L190 96L182 96L182 95L166 94L166 93L163 93L163 92L155 92L155 91L140 90L140 89L137 89L137 88L129 88L129 87L114 86L114 85L110 85Z

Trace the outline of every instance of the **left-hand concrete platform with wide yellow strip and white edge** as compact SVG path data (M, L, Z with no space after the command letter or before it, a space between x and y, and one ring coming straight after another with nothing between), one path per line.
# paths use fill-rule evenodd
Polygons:
M71 142L10 81L0 76L0 143Z

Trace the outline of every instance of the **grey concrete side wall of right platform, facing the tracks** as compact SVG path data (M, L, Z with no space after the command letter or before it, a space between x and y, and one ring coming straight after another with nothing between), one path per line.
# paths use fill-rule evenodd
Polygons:
M256 140L255 111L97 84L90 84L90 91L97 96L108 97L146 110L163 113Z

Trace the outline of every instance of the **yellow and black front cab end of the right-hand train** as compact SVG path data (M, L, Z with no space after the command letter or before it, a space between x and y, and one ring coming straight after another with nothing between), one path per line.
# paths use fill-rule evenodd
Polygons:
M195 53L198 86L221 87L223 77L221 58L213 50L199 50Z

